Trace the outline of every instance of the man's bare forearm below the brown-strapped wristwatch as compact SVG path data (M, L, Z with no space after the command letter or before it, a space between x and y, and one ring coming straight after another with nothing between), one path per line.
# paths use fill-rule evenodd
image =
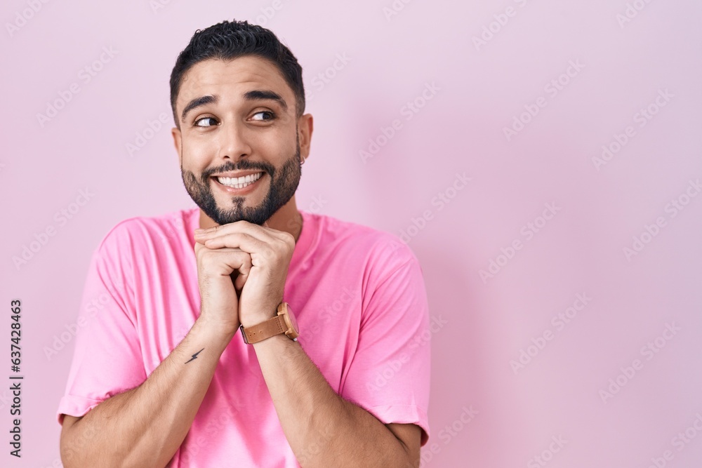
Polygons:
M253 347L283 432L304 468L412 466L395 434L334 392L298 342L276 335Z

